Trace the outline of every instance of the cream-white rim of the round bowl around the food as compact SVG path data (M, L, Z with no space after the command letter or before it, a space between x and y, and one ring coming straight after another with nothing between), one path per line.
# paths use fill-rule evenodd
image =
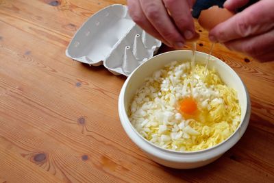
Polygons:
M150 58L149 60L152 60L152 59L155 59L155 58L158 58L162 55L165 55L165 54L173 54L175 52L182 52L182 53L188 53L188 52L192 52L191 50L176 50L176 51L168 51L168 52L165 52L165 53L161 53L157 56L154 56L153 58ZM203 53L201 51L196 51L196 54L201 54L201 55L205 55L205 56L208 56L208 53ZM178 155L196 155L196 154L203 154L203 153L206 153L208 151L213 151L214 149L218 149L219 147L223 146L225 143L227 143L228 141L232 141L232 138L233 137L236 137L236 133L240 130L240 128L242 126L244 126L243 123L249 123L249 118L250 118L250 110L251 110L251 106L250 106L250 99L249 99L249 93L248 93L248 90L247 90L247 87L245 86L245 84L242 82L242 79L240 78L240 76L228 65L226 64L225 62L223 62L222 60L220 60L219 58L216 58L214 56L211 56L212 58L214 58L214 60L217 62L221 62L221 64L223 64L223 66L227 67L227 69L230 70L231 73L233 73L233 75L236 75L236 77L238 77L238 79L240 79L240 85L242 85L244 88L245 88L245 97L246 97L246 100L247 102L245 103L245 115L244 117L242 118L242 120L240 121L238 127L236 128L236 130L228 137L226 138L224 141L222 141L221 143L217 144L217 145L214 145L213 147L209 147L207 149L201 149L201 150L198 150L198 151L176 151L176 150L173 150L173 149L165 149L163 147L160 147L158 145L155 145L154 143L151 143L150 141L148 141L146 138L144 138L136 129L135 127L132 125L132 123L129 121L129 117L127 115L127 112L126 112L126 109L125 109L125 90L127 89L127 84L128 82L131 80L132 77L134 77L134 73L136 73L136 71L138 71L138 69L140 69L141 67L145 66L147 64L147 62L149 62L149 60L147 60L147 62L145 62L144 64L141 64L140 66L138 66L133 72L131 75L129 75L129 77L127 77L127 80L125 81L125 83L123 84L123 87L121 89L121 93L119 95L119 117L121 119L121 123L124 127L124 130L127 132L126 130L126 127L124 126L125 124L124 123L127 123L131 129L134 131L135 134L137 134L139 136L139 138L142 139L142 141L145 141L145 143L149 143L149 145L151 145L152 147L155 147L157 149L159 149L160 151L165 151L166 153L171 153L171 154L178 154ZM245 125L245 128L240 130L242 132L242 134L240 134L240 137L238 138L238 140L240 140L241 136L245 133L245 130L247 129L247 125ZM132 141L134 141L134 139L131 137L131 135L129 133L127 133L129 135L129 137L132 139ZM229 147L225 148L225 150L223 151L223 153L225 151L227 151L228 149L230 149L232 146L234 146L238 140L234 140L234 142L232 143L232 145L229 145ZM138 145L141 149L142 146L137 142L137 141L134 141L134 143L136 143L136 145ZM145 150L145 149L144 149ZM219 153L221 154L221 153Z

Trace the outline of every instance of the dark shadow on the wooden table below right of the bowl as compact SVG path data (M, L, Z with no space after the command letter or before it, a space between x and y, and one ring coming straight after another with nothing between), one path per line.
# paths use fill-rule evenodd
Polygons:
M252 113L247 131L240 141L215 162L197 169L181 170L168 167L162 169L176 178L191 182L193 180L241 181L245 178L252 180L256 175L267 179L273 166L269 162L274 162L273 127L271 121ZM245 177L247 175L249 177Z

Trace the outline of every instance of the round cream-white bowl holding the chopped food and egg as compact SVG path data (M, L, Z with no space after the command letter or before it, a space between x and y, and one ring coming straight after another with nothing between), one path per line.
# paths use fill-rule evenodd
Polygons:
M134 129L132 123L130 123L129 118L127 117L127 110L129 109L136 90L138 90L138 88L140 88L140 86L145 82L145 77L151 76L153 71L162 69L165 64L174 60L190 60L191 56L192 51L171 51L162 53L147 60L147 62L138 66L138 68L129 75L119 96L119 117L129 138L131 138L132 141L134 141L134 143L136 143L136 145L138 145L138 147L140 147L140 149L142 149L142 151L144 151L152 160L163 164L166 167L172 167L175 169L192 169L201 167L222 156L225 151L235 145L242 137L242 134L245 133L251 111L249 94L245 84L242 83L240 77L232 68L225 64L225 62L212 56L212 61L208 64L209 69L214 67L223 82L225 82L227 86L234 88L238 93L238 99L241 106L241 121L234 134L219 145L201 151L190 152L163 149L143 138ZM205 64L207 56L208 54L197 51L196 62Z

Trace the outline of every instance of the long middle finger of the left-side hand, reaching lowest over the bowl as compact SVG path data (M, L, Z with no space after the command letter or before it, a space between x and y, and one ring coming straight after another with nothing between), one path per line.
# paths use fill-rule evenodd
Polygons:
M147 19L169 44L173 45L176 49L184 47L185 40L183 36L179 34L175 25L173 25L162 1L140 0L140 5Z

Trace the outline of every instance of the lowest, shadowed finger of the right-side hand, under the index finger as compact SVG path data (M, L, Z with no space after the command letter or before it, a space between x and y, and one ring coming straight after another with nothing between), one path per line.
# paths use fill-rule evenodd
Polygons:
M274 60L274 29L258 36L251 36L238 40L225 42L225 46L231 50L247 53L253 58L262 61ZM267 59L266 59L267 58Z

